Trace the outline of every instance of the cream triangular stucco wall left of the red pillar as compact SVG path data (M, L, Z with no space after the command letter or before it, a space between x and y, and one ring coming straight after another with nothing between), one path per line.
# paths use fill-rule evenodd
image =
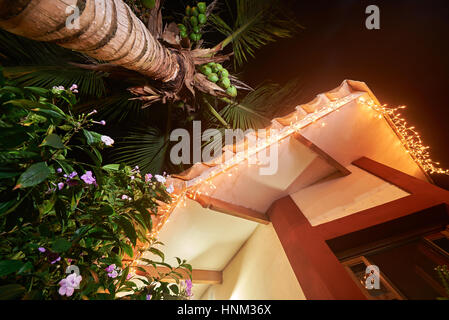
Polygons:
M259 225L202 300L305 299L271 224Z

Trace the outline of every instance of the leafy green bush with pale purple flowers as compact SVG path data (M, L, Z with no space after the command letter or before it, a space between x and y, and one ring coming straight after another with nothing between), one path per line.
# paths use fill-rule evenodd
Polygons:
M179 271L191 266L165 263L147 236L171 188L138 167L102 164L114 140L95 132L106 125L95 111L72 113L77 92L19 88L0 70L0 299L189 298ZM158 256L142 261L169 271L133 281L123 258L138 242Z

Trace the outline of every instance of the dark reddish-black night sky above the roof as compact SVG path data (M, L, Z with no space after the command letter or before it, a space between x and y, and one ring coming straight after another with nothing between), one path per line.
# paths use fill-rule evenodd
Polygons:
M365 8L380 8L380 30L365 28ZM382 103L407 105L432 159L449 168L449 1L301 0L305 30L258 51L243 78L285 83L301 77L307 102L344 79L364 81ZM449 189L449 177L433 176Z

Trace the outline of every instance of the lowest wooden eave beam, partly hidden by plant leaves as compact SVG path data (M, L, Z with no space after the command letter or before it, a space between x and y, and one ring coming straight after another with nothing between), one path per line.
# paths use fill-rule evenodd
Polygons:
M153 267L153 266L139 266L140 268L145 269L145 272L137 269L136 274L139 276L150 276L150 277L159 277L159 274L168 273L170 271L167 267ZM176 272L182 275L182 279L190 279L188 273L184 270L175 270ZM175 279L167 277L164 278L165 282L175 282ZM213 270L192 270L192 283L196 284L221 284L223 282L223 273L221 271L213 271Z

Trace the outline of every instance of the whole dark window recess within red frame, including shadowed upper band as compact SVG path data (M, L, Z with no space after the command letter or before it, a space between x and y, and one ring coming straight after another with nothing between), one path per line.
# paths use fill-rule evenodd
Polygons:
M373 300L449 298L437 266L449 266L444 206L327 240L364 295ZM379 289L366 289L367 266L379 268Z

